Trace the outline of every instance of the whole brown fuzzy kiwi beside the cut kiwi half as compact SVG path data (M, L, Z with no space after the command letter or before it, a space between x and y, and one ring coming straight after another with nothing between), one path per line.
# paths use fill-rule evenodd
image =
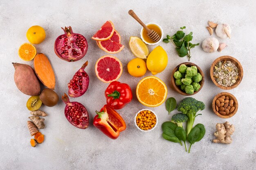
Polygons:
M52 89L45 88L39 96L44 105L53 107L58 103L58 94Z

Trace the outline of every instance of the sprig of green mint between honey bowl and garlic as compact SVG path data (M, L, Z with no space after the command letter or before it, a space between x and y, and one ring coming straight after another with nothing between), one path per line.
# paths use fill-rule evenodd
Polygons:
M170 35L166 35L166 38L163 39L163 42L169 43L170 41L175 46L175 49L180 57L187 56L190 60L190 50L191 48L194 48L195 46L198 46L198 44L192 44L190 41L192 41L193 36L192 32L190 32L188 35L185 35L183 32L183 29L185 29L186 26L180 27L181 31L177 31L172 37Z

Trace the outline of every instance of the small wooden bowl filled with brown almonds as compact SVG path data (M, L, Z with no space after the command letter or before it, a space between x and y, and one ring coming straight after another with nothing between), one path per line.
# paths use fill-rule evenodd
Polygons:
M232 94L222 92L213 98L212 108L220 118L231 118L238 110L238 101Z

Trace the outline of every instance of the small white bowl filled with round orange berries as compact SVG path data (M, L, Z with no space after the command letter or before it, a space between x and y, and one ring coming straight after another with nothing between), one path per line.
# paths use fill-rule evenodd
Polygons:
M135 126L144 132L149 132L157 126L157 115L150 109L142 109L138 111L134 118Z

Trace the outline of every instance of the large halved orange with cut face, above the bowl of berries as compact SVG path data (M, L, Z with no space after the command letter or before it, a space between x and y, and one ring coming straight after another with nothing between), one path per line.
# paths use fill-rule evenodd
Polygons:
M136 95L142 105L157 107L167 96L167 87L162 80L155 76L148 76L139 81Z

